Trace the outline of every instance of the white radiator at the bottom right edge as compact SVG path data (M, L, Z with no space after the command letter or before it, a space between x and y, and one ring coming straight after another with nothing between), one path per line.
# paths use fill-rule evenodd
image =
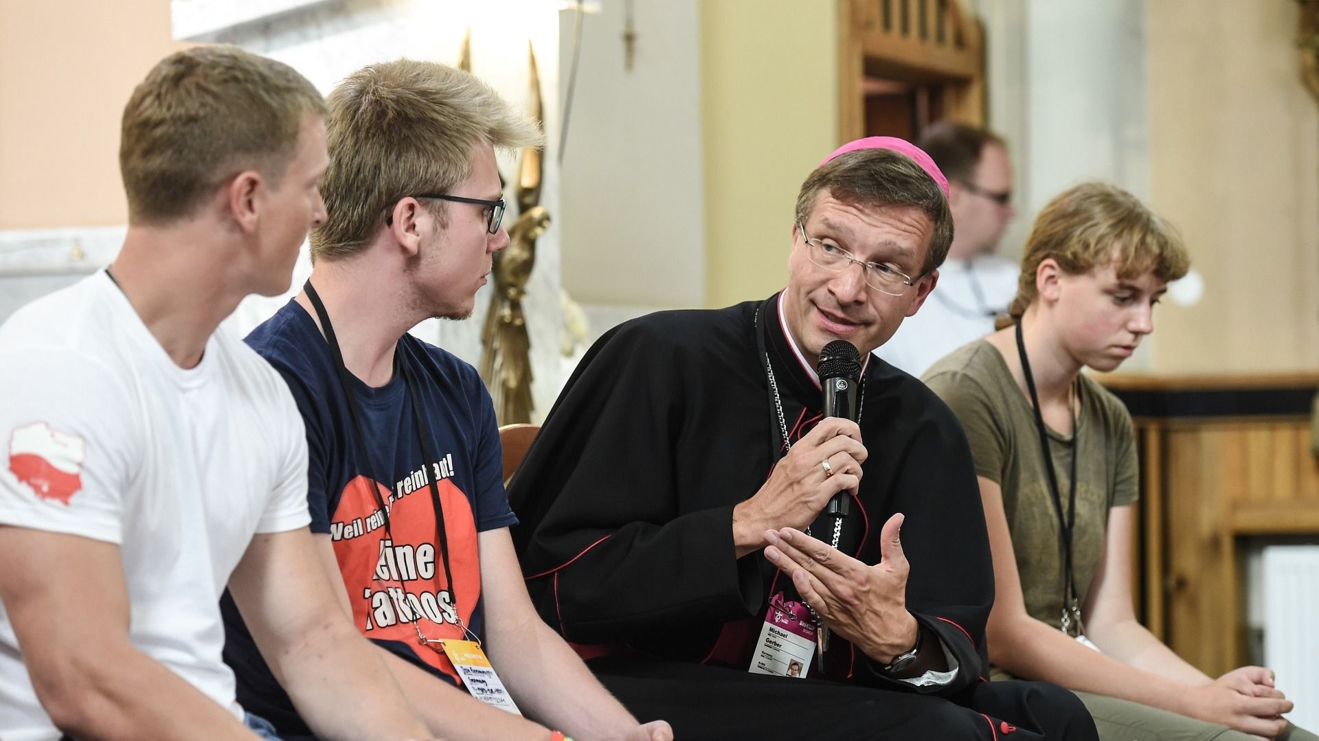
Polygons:
M1319 546L1264 548L1264 665L1297 704L1287 720L1319 729Z

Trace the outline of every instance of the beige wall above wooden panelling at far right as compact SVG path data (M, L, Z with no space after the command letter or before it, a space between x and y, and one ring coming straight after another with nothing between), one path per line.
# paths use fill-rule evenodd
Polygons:
M1297 4L1149 3L1151 200L1206 291L1165 302L1151 372L1319 367L1319 103Z

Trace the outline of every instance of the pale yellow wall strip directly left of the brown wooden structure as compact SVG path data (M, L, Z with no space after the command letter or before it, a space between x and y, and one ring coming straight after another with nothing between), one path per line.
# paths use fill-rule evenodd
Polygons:
M838 142L838 7L700 4L706 303L787 281L797 189Z

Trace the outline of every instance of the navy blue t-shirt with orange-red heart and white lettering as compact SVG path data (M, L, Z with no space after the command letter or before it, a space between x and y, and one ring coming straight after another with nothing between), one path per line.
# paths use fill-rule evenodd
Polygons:
M331 538L357 629L458 684L439 645L422 645L417 630L429 639L463 638L460 620L481 634L476 533L517 522L504 493L495 407L476 369L404 335L388 384L371 388L351 377L369 458L363 461L330 345L311 315L289 301L245 341L284 376L302 413L311 531ZM422 460L413 402L400 367L417 388L434 460ZM439 488L452 588L441 558L433 479ZM385 502L388 534L372 487ZM228 595L222 608L224 661L237 675L239 703L274 723L281 736L309 733Z

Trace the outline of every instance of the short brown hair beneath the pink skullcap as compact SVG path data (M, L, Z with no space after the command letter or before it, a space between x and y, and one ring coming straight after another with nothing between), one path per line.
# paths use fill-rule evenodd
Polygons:
M934 227L921 276L943 265L952 244L948 199L934 178L906 154L892 149L857 149L815 167L797 194L797 223L806 223L824 190L849 204L919 208Z

